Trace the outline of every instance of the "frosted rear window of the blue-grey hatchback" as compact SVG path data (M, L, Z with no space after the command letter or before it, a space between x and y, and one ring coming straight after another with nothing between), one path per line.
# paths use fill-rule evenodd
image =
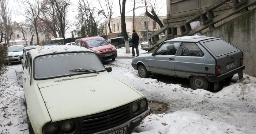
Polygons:
M222 39L211 40L203 43L215 56L221 56L237 51L237 48Z

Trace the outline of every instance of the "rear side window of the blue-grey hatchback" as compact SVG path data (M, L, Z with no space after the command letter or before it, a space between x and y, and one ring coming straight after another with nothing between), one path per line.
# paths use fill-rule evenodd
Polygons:
M203 51L196 45L196 43L182 42L178 50L177 56L204 56Z

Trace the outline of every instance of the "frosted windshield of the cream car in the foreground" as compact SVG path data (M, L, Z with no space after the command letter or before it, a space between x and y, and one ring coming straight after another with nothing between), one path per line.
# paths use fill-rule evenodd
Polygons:
M47 65L47 66L46 66ZM69 71L85 68L91 71ZM105 70L93 52L65 53L39 56L34 60L34 78L50 79Z

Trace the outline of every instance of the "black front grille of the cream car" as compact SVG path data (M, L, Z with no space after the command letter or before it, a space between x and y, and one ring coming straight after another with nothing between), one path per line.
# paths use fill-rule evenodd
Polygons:
M81 134L92 134L121 125L131 119L129 105L102 113L80 117Z

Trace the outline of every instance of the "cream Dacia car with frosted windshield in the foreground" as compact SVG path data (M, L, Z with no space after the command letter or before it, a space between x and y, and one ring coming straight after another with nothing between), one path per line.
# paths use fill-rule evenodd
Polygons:
M79 46L30 50L23 88L30 134L127 134L150 115L147 99Z

